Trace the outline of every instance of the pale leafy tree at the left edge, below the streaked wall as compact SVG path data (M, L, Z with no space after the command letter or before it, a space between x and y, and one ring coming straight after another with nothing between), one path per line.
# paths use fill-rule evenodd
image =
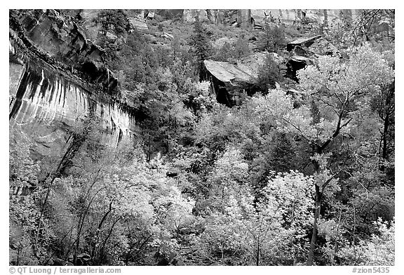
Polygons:
M17 143L18 142L18 143ZM36 224L39 210L32 196L39 188L40 166L32 159L32 143L27 136L10 131L9 147L9 220L10 220L10 264L39 264L43 247L35 249ZM40 251L39 251L40 250Z

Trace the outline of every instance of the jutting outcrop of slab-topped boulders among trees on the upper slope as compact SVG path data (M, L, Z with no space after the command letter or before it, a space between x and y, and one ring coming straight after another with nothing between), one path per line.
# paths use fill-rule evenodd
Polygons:
M283 76L294 81L297 81L296 72L307 65L316 64L318 56L341 57L339 50L320 35L290 41L286 48L289 52L287 58L277 53L262 52L238 60L236 64L204 60L205 79L210 81L220 103L228 106L241 105L247 95L255 93L253 87L257 82L258 69L264 64L266 55L271 55ZM281 88L285 90L294 88L294 85L288 86L286 81L283 82Z

